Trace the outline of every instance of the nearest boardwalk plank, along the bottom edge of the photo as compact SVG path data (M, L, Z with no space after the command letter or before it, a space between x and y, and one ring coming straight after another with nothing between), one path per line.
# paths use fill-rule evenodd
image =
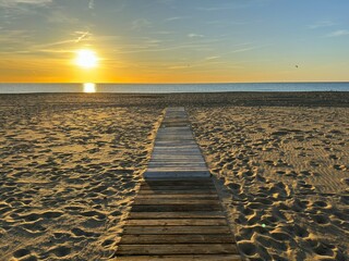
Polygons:
M116 256L117 257L117 256ZM240 254L171 254L118 257L118 261L241 261Z

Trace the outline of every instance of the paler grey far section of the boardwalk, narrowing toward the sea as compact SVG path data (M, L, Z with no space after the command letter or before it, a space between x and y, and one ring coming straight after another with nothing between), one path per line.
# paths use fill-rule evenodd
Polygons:
M145 178L208 176L184 108L169 108L157 132Z

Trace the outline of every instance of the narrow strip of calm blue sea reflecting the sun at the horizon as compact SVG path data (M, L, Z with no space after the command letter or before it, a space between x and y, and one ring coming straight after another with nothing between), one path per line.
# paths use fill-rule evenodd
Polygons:
M0 84L0 94L116 92L174 94L230 91L349 91L349 83L243 84Z

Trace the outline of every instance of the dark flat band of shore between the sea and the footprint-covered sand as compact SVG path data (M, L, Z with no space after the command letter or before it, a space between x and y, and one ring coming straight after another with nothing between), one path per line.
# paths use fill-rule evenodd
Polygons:
M62 98L62 99L57 99ZM10 101L10 102L9 102ZM12 103L11 103L12 102ZM101 105L242 105L349 107L349 91L312 92L197 92L197 94L2 94L0 107L50 104Z

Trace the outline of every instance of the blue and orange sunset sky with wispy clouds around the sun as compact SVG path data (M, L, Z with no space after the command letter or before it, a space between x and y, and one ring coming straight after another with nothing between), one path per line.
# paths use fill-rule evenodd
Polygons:
M349 82L348 13L348 0L0 0L0 83Z

